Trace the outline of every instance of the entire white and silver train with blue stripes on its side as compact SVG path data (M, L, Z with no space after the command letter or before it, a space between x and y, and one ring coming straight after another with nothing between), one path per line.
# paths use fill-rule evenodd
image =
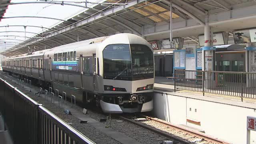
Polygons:
M5 58L4 71L53 87L105 113L153 109L154 54L134 34L115 34Z

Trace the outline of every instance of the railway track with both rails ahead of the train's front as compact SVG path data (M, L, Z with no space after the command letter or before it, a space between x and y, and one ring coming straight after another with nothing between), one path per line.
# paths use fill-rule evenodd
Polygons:
M129 118L125 118L124 116L120 116L121 119L123 120L126 120L128 122L132 122L133 124L136 124L138 126L141 126L143 128L146 128L148 130L151 130L152 132L156 132L162 136L165 136L167 138L170 138L171 140L174 140L176 142L180 142L180 143L184 143L184 144L230 144L228 142L225 142L223 140L219 140L217 138L214 138L214 137L211 137L211 136L208 136L202 132L198 132L196 130L190 130L188 128L184 128L182 126L178 126L178 125L175 125L175 124L171 124L170 122L166 122L164 120L160 120L158 118L152 118L150 116L145 116L145 115L141 115L142 117L146 118L147 120L150 120L150 121L153 121L153 122L156 122L158 124L161 124L165 127L169 127L169 128L172 128L176 131L179 131L181 133L179 133L179 135L174 135L174 134L171 134L169 132L166 132L164 130L161 130L160 128L154 128L154 126L150 125L150 124L145 124L143 122L136 122L134 120L131 120ZM189 135L189 136L188 136ZM198 143L195 143L190 140L188 140L187 138L193 138L194 141L195 139L200 139L198 141Z

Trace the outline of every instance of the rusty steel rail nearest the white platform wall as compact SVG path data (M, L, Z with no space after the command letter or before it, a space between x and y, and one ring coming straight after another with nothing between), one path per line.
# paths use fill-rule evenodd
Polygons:
M150 120L153 120L153 121L156 121L158 123L161 123L163 125L166 125L166 126L169 126L169 127L172 127L176 130L180 130L182 132L185 132L185 133L188 133L188 134L191 134L193 136L196 136L196 137L199 137L199 138L203 138L205 139L206 141L211 141L211 142L216 142L218 144L230 144L229 142L225 142L224 140L219 140L217 138L214 138L212 136L208 136L207 134L204 134L202 132L198 132L198 131L195 131L195 130L190 130L188 128L183 128L182 126L178 126L176 124L171 124L170 122L166 122L164 120L160 120L158 118L152 118L150 116L145 116L145 115L142 115L144 116L145 118L148 118Z

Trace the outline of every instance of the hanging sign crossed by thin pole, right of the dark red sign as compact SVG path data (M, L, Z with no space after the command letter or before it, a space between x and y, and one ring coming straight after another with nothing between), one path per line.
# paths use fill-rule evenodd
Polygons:
M172 44L170 39L162 40L161 49L182 49L184 44L184 38L173 38Z

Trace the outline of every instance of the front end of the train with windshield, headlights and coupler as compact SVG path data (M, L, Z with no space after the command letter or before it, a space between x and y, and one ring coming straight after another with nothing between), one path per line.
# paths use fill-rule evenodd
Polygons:
M104 94L100 105L105 113L148 112L153 109L154 52L134 34L108 44L102 51ZM124 42L127 39L127 42Z

